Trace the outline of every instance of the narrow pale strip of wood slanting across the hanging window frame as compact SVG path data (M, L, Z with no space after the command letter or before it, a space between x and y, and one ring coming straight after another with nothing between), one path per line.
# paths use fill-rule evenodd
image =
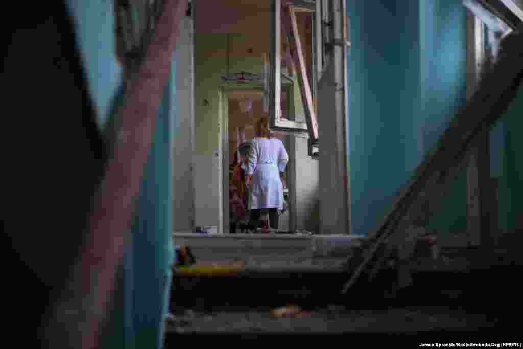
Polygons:
M291 56L297 67L298 81L300 83L301 98L304 103L305 119L309 128L309 134L312 139L318 138L318 122L314 104L312 101L311 87L305 66L305 59L302 50L298 25L294 8L287 4L282 4L281 19L283 27L286 29L287 38L290 44Z

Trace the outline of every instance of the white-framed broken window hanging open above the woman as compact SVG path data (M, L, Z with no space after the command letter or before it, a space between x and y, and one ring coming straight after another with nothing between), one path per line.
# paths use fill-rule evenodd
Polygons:
M271 4L269 111L271 127L318 139L315 2Z

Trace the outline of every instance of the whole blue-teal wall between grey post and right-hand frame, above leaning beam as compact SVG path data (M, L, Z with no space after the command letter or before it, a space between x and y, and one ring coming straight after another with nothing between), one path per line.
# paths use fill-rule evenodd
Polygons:
M464 102L465 9L349 0L347 11L351 216L367 235Z

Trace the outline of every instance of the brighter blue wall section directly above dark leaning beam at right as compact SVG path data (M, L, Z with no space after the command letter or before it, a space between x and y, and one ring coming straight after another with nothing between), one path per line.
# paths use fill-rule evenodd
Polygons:
M420 1L424 151L433 147L465 103L466 12L461 1Z

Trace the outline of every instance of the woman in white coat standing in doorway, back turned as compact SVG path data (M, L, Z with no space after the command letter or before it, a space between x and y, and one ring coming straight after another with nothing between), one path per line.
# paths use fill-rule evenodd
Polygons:
M269 129L269 119L260 119L255 126L246 171L251 223L259 222L261 210L266 209L269 211L270 227L278 229L278 210L283 208L280 172L285 172L288 160L285 146Z

